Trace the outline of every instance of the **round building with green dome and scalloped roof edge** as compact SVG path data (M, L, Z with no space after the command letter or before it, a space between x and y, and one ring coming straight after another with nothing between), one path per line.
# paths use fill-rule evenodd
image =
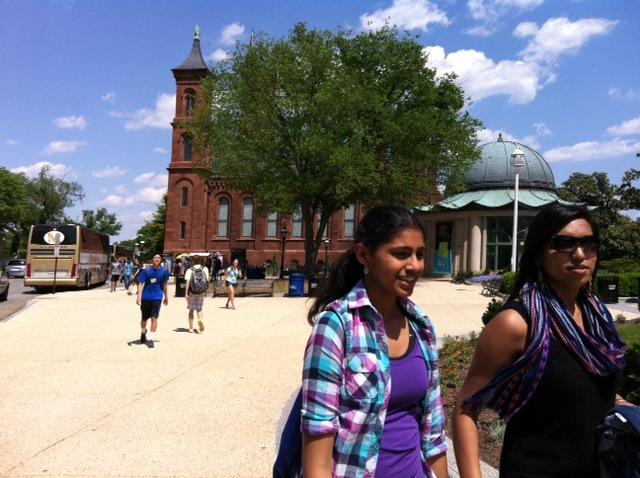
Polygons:
M480 160L464 179L466 191L419 208L429 238L426 274L496 271L511 265L516 168L512 155L524 154L518 168L518 241L547 204L561 202L553 172L534 149L498 140L481 146Z

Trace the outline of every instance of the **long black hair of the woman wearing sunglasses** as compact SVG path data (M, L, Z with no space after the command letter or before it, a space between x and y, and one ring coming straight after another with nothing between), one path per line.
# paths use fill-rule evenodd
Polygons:
M529 231L527 232L527 238L524 241L524 249L520 257L520 267L513 290L508 299L509 301L518 296L520 289L522 289L525 283L528 281L537 281L540 273L544 275L545 272L540 266L544 247L553 235L557 234L560 229L576 219L584 219L591 225L593 237L596 243L599 244L600 227L593 219L589 210L584 206L553 203L541 209L536 217L533 218L529 226Z

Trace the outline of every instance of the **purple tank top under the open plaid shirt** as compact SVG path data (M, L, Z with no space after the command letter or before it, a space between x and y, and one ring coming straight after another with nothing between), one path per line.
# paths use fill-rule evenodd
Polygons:
M421 401L427 393L428 371L417 340L407 353L391 359L391 396L382 430L376 478L424 478L420 447Z

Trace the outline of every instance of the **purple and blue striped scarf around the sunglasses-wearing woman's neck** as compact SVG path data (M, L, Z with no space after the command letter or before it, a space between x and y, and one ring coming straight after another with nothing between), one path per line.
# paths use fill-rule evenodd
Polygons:
M540 383L553 337L571 350L592 375L606 376L624 368L626 344L613 325L611 313L593 293L581 292L578 297L586 333L546 284L527 282L519 299L529 313L529 345L515 362L465 400L466 405L491 408L507 420L513 417Z

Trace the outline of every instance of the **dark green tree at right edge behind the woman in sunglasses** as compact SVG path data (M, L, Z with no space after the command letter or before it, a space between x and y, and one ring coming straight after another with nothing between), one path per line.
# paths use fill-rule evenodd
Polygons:
M574 173L558 190L569 201L595 206L593 215L602 235L602 257L640 257L640 224L624 211L640 209L640 171L628 170L620 185L612 184L607 173Z

